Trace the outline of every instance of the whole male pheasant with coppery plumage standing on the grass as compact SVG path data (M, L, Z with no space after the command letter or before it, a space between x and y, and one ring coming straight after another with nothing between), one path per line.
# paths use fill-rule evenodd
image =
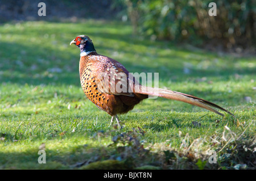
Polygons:
M118 61L96 52L92 40L86 35L77 36L70 45L80 48L79 73L82 90L98 108L107 112L121 127L118 114L133 110L134 106L149 96L179 100L224 116L214 108L232 115L224 108L196 96L177 91L142 86ZM102 76L102 75L104 76ZM119 85L119 86L118 86ZM119 87L119 89L115 89Z

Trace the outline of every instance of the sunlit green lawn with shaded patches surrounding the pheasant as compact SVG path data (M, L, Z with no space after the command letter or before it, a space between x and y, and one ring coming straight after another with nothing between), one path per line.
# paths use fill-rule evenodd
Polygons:
M23 22L0 26L0 169L253 169L255 56L212 53L131 34L129 24ZM144 100L123 129L82 92L86 34L131 72L159 73L159 87L214 102L237 116ZM46 164L38 151L46 150ZM210 150L217 163L210 164Z

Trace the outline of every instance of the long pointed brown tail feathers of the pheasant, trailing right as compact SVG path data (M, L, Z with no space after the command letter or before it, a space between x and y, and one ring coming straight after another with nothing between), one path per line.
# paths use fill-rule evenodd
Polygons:
M171 91L166 89L146 87L146 86L137 87L136 92L138 92L139 94L146 94L146 95L152 95L152 96L159 96L166 99L179 100L181 102L199 106L209 111L215 112L218 115L224 116L222 113L218 112L217 110L214 110L214 108L218 108L222 111L229 113L233 117L236 117L231 112L229 112L228 110L225 110L224 108L218 106L217 104L211 103L208 100L197 98L196 96L193 96L193 95L188 95L181 92L176 92L176 91Z

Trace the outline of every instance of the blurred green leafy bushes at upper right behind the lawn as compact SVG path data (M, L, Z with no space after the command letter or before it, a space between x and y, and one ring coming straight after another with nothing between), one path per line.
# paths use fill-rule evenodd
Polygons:
M248 48L255 45L256 7L250 0L216 1L217 16L209 16L212 0L143 0L120 1L134 33L151 39L188 41L217 48ZM220 46L220 47L219 47Z

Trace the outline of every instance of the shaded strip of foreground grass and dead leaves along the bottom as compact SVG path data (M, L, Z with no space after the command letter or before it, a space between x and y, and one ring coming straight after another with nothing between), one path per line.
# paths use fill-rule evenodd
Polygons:
M139 132L118 134L112 138L113 142L108 146L99 142L100 137L106 136L104 134L106 133L98 132L96 138L89 138L98 142L98 146L69 145L68 150L66 148L65 151L63 148L47 149L47 140L45 140L46 164L38 163L38 160L41 160L38 146L26 150L2 152L0 169L234 169L236 166L239 169L241 162L246 163L246 169L254 167L255 157L250 142L246 144L247 148L250 148L247 150L243 149L245 144L241 141L236 142L235 145L234 142L230 143L228 148L235 146L237 150L221 151L218 153L217 164L210 164L207 153L186 148L172 149L168 142L156 148L158 151L152 148L145 149L140 143L143 136ZM185 140L186 138L183 141ZM204 164L200 165L203 162Z

